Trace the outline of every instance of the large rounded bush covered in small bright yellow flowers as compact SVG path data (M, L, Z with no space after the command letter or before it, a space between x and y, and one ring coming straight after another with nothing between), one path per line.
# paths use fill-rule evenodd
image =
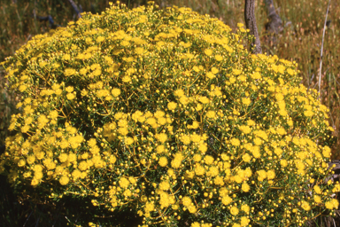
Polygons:
M327 107L297 64L251 54L238 27L111 4L36 35L3 62L20 113L0 173L30 198L133 210L143 226L334 215Z

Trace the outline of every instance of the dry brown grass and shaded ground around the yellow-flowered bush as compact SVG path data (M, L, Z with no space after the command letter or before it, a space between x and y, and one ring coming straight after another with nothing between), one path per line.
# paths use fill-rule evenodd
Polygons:
M34 35L47 32L48 21L40 21L39 16L50 15L54 26L66 26L69 21L77 20L72 5L68 0L3 0L0 4L0 62L14 54L21 45ZM84 12L100 13L109 5L104 0L74 1ZM146 4L144 0L120 1L129 8ZM238 22L243 22L244 1L240 0L155 0L160 8L178 5L191 8L201 14L210 14L233 29ZM328 1L324 0L282 0L275 1L277 12L282 18L284 29L273 43L267 38L267 8L265 0L256 0L256 17L262 49L268 54L282 59L298 62L302 83L307 88L318 89L321 61L321 43ZM340 127L340 3L330 0L328 26L324 37L321 102L328 106L329 124L335 129L334 136L339 137ZM0 145L7 137L7 127L11 114L15 114L17 97L5 90L4 69L0 67ZM333 160L340 159L340 141L333 147ZM4 226L66 226L68 215L86 214L77 207L67 204L44 204L23 201L16 198L12 188L0 178L0 223ZM19 206L21 204L21 206ZM24 204L24 205L22 205ZM62 207L63 206L63 207ZM84 204L84 207L87 205ZM65 208L67 207L67 208ZM82 213L85 212L85 213ZM94 214L95 215L95 214ZM90 216L89 213L87 216ZM129 215L127 214L127 220ZM76 218L75 218L76 219ZM3 221L4 220L4 221ZM130 225L131 226L131 225Z

